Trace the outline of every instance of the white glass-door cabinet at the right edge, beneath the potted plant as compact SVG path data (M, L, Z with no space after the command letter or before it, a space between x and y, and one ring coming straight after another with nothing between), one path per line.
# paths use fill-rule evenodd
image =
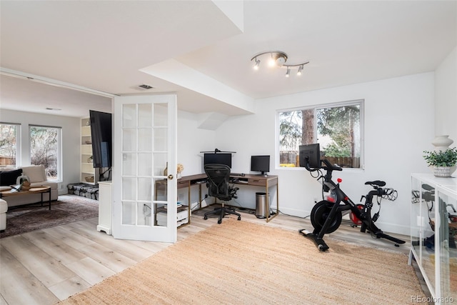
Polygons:
M411 259L415 259L432 302L457 301L457 179L411 176Z

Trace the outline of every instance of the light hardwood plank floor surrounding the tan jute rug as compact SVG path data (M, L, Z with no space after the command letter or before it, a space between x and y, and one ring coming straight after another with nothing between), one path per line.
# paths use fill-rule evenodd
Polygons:
M204 220L204 211L196 211L191 224L178 229L178 240L217 224L216 218ZM248 210L241 211L241 218L241 221L266 224L265 219L257 219ZM56 304L170 245L113 239L96 231L97 222L98 218L86 219L0 239L0 304ZM297 234L298 229L312 230L308 219L283 214L267 225L291 229ZM396 235L406 240L406 244L395 247L391 241L373 239L348 224L341 224L330 236L404 254L409 251L408 236Z

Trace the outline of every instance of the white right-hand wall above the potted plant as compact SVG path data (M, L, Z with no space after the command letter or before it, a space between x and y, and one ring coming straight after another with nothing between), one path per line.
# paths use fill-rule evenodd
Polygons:
M435 71L435 131L457 144L457 46Z

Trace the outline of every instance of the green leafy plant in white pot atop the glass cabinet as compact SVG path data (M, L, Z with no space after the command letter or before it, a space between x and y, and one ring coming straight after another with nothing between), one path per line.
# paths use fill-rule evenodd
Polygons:
M433 166L433 173L437 177L450 177L457 164L457 148L446 151L423 151L423 159L429 166ZM454 169L451 171L451 167Z

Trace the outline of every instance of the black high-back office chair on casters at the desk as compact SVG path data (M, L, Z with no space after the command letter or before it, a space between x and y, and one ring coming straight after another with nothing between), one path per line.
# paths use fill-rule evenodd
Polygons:
M230 167L224 164L206 164L205 172L208 176L206 186L208 186L209 196L221 200L222 206L214 209L214 211L206 212L204 219L208 219L208 215L219 214L217 223L221 224L226 214L233 214L238 216L238 220L241 220L241 214L236 213L235 209L224 206L225 201L236 198L236 191L238 191L237 187L230 186Z

